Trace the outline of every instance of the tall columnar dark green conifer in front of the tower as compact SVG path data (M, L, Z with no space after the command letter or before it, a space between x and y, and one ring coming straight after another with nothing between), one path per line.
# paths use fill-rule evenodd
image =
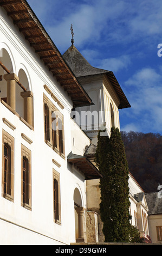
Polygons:
M101 136L99 132L95 162L103 174L100 215L105 242L129 242L129 171L118 128L112 127L110 137Z

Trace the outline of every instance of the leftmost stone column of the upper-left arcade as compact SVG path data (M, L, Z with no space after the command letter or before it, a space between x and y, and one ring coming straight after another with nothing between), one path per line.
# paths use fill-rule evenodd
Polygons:
M3 77L7 81L7 104L16 110L16 82L19 81L19 78L16 74L7 74Z

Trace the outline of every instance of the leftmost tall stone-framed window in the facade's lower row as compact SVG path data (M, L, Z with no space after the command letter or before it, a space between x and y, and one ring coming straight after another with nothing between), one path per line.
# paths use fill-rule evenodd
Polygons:
M4 157L4 147L10 148L10 156L8 155L8 167L10 172L7 170L7 191L5 191L5 157ZM8 132L2 130L2 197L11 202L14 202L14 147L15 139ZM8 185L10 188L8 189ZM10 190L10 193L8 193Z

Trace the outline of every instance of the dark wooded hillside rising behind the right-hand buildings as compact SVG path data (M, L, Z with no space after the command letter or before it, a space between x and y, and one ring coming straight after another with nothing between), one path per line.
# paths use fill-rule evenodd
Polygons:
M159 133L121 131L129 172L144 192L162 185L162 136Z

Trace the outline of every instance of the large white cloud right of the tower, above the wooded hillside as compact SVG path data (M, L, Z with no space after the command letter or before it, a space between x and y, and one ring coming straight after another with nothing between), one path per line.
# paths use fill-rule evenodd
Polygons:
M162 131L162 76L158 70L144 68L137 71L125 83L131 102L131 113L126 115L141 130ZM131 117L132 115L132 117Z

